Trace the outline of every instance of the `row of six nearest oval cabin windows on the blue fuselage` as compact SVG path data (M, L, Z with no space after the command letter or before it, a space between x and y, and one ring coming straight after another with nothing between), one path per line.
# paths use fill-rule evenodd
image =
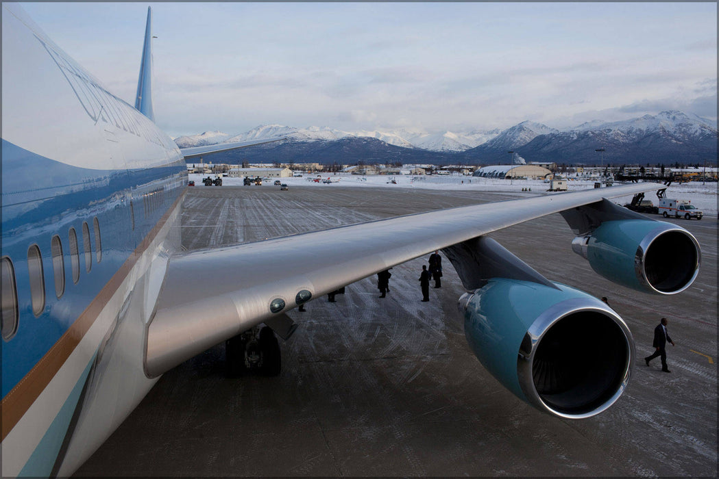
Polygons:
M102 241L100 236L100 223L95 217L93 219L93 233L95 236L95 259L102 261ZM83 250L85 254L85 271L89 273L92 269L92 241L90 227L83 221ZM80 249L78 248L78 234L75 228L68 231L68 247L70 248L70 269L72 271L73 284L80 281ZM60 299L65 294L65 255L63 254L63 241L60 236L54 235L50 239L50 254L52 255L52 277L55 282L55 296ZM2 338L9 341L17 333L18 327L18 300L17 284L15 282L15 269L12 260L3 256L1 261L2 269ZM45 310L45 271L42 267L42 253L40 246L33 244L27 249L27 271L30 286L30 300L32 312L39 317Z

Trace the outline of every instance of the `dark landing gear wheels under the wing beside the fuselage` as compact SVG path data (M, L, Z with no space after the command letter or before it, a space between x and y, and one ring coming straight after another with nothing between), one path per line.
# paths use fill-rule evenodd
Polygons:
M236 378L247 373L278 376L282 370L280 344L270 327L253 327L225 341L225 374Z

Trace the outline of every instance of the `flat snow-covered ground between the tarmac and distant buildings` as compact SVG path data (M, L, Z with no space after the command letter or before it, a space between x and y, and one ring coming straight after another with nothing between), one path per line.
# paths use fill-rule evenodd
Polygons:
M190 180L194 180L195 184L202 187L203 175L191 174ZM467 177L462 175L446 175L446 176L357 176L349 173L337 173L321 175L322 180L329 178L332 183L313 182L313 178L318 175L304 175L303 177L280 178L280 181L287 183L291 187L391 187L391 188L421 188L427 190L477 190L491 192L509 192L516 193L518 196L523 195L557 195L556 192L547 192L549 184L542 180L498 180L492 178ZM395 180L396 185L391 181ZM223 185L242 185L242 178L222 179ZM275 178L270 181L263 182L262 187L275 187L273 183ZM615 183L618 185L619 183ZM586 190L594 187L594 180L572 180L567 182L569 191ZM527 191L523 191L527 190ZM531 190L531 191L528 191ZM718 212L717 206L717 183L707 183L702 185L701 182L688 182L682 185L674 184L667 188L667 195L677 197L682 200L690 200L705 215L716 218ZM656 205L658 203L653 193L646 194L647 200L652 200ZM623 205L631 201L631 196L614 198L615 203Z

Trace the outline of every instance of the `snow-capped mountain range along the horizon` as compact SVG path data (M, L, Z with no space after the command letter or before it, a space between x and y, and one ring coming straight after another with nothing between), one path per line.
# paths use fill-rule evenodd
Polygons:
M349 164L501 164L514 152L526 162L559 164L696 164L717 160L716 122L679 111L626 121L591 121L558 130L523 121L509 129L428 134L419 131L341 131L266 125L242 134L208 131L180 136L180 148L286 136L288 141L214 154L212 162ZM598 153L597 149L604 151Z

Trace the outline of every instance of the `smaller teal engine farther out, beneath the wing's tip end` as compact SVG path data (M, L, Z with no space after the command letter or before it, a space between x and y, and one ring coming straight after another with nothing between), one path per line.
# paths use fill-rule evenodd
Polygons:
M701 251L692 234L654 220L613 220L572 241L598 274L654 294L687 289L699 273Z

